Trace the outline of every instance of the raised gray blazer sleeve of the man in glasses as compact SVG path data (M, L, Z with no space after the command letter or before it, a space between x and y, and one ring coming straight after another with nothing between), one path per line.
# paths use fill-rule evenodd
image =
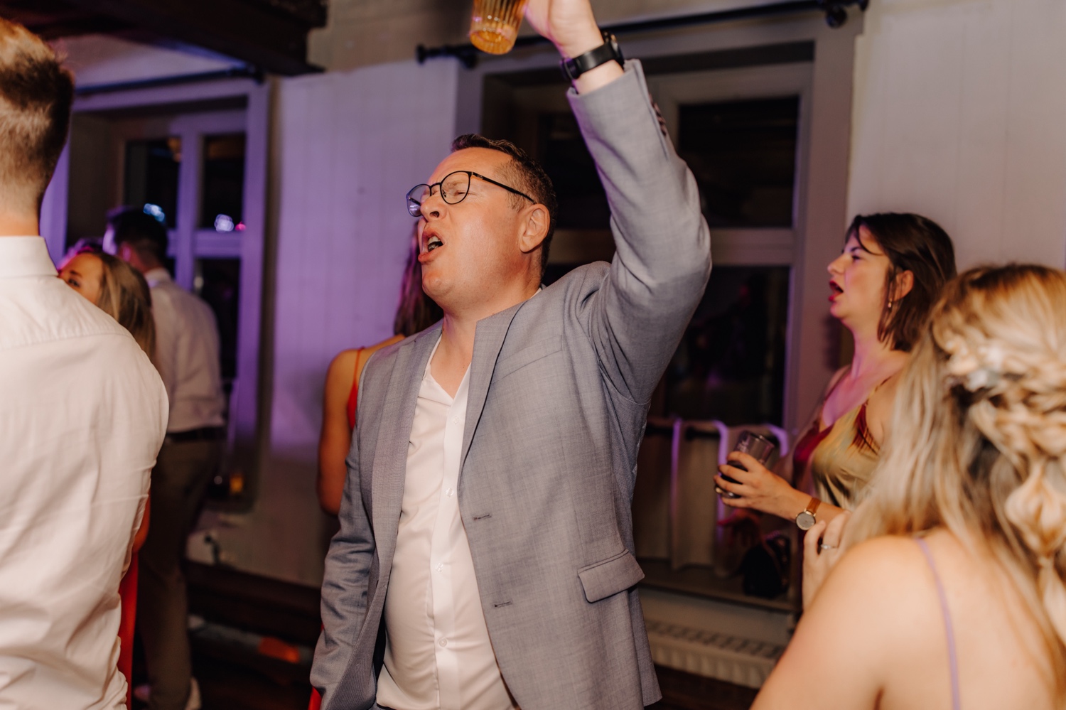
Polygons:
M651 103L640 63L570 106L611 206L615 256L587 304L603 372L647 402L674 355L710 274L710 235L696 181Z

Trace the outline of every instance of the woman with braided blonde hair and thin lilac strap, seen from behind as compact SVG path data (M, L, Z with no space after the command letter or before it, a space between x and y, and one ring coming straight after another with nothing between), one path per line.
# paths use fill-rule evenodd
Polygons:
M1064 354L1066 273L947 287L851 549L754 708L1066 708ZM844 520L807 534L808 571Z

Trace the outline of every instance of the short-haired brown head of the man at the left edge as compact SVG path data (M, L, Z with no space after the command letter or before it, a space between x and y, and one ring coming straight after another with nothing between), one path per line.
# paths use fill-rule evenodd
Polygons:
M74 76L55 51L0 18L0 208L39 214L72 102Z

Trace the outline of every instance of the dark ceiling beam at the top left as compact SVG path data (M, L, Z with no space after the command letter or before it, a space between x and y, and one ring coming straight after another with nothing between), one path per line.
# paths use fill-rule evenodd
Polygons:
M96 15L162 37L293 76L321 71L307 63L311 27L275 0L65 0ZM280 0L277 0L280 2ZM306 2L289 0L293 4ZM324 16L321 18L325 21Z

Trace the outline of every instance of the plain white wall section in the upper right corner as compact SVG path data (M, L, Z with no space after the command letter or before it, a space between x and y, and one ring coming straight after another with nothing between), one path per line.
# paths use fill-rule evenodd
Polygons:
M881 0L856 46L850 212L940 222L963 268L1066 265L1066 3Z

